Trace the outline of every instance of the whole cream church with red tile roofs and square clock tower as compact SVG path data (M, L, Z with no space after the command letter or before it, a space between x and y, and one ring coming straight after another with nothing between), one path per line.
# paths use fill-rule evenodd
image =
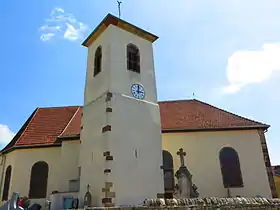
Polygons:
M277 197L269 125L199 100L157 100L153 42L108 14L83 42L83 106L36 108L1 151L2 201L75 195L92 206L172 197L178 151L199 196Z

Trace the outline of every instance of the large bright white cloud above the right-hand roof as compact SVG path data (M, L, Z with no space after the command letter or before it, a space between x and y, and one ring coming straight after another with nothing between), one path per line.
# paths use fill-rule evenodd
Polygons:
M229 85L224 93L236 93L250 84L259 84L270 79L280 70L280 43L264 44L260 50L243 50L233 53L227 64Z

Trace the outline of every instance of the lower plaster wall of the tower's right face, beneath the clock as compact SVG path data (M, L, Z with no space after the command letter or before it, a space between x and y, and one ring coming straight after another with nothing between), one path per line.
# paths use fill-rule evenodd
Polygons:
M121 95L114 95L112 107L108 143L115 202L132 205L156 198L164 192L159 107Z

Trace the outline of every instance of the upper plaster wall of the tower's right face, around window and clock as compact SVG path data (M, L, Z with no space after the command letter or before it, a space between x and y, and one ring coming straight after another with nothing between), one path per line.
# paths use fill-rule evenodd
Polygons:
M131 85L140 83L146 90L145 100L157 103L153 44L114 25L108 27L110 43L110 90L114 93L131 95ZM140 52L140 71L138 74L127 70L126 46L134 44Z

